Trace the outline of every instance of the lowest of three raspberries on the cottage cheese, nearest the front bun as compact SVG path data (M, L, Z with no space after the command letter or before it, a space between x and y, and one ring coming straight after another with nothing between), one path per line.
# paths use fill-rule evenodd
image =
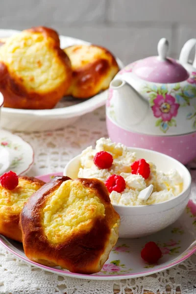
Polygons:
M121 193L124 191L126 187L126 183L124 178L121 175L112 174L109 178L105 181L105 186L107 190L111 193L112 191L116 191Z

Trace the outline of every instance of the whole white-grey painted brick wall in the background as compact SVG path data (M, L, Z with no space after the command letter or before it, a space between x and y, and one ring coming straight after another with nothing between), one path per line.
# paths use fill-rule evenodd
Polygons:
M105 46L124 63L157 54L162 37L178 57L196 38L196 0L0 0L0 28L34 25Z

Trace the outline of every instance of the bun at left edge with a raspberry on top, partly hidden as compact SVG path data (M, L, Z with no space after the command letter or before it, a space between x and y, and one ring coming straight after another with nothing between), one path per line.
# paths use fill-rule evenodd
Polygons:
M45 183L39 179L19 176L18 186L9 191L0 185L0 234L22 242L20 213L25 201Z

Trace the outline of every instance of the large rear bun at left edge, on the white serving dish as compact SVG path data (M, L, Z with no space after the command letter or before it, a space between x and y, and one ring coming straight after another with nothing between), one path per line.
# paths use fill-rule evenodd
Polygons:
M57 32L34 27L0 46L0 92L4 106L50 109L71 85L72 69Z

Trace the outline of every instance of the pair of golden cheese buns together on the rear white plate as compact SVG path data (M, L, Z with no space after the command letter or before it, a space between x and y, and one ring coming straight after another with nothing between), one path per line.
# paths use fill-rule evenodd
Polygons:
M90 98L118 73L114 56L95 45L60 48L51 28L38 26L0 40L4 106L51 109L64 96Z

